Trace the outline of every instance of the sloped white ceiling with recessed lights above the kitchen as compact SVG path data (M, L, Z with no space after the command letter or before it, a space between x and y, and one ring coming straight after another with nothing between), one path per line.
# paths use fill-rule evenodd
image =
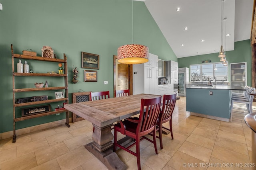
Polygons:
M220 51L221 0L141 1L178 58ZM180 12L176 11L178 7ZM224 51L234 50L236 41L250 39L252 8L253 0L224 0L224 18L227 19L223 25L226 25L226 34L231 34L225 38Z

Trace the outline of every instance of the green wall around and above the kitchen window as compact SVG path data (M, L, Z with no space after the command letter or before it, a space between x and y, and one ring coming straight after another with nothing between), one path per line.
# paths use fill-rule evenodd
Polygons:
M247 85L252 86L252 47L250 45L250 39L235 42L234 51L226 51L225 53L228 64L241 62L247 63ZM218 58L218 53L213 53L207 55L179 58L178 63L179 68L189 68L190 64L201 64L202 61L206 60L211 60L212 63L220 62L220 58Z

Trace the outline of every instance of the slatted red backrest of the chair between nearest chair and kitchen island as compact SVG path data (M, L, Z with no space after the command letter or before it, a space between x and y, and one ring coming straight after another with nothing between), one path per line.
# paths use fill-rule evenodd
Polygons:
M159 119L162 123L169 121L172 118L172 113L176 104L176 94L164 95L163 107L160 111Z

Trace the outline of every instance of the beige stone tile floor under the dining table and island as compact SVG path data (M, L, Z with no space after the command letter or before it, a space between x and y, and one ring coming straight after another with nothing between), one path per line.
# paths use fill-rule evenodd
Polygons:
M254 102L254 110L256 110ZM186 98L177 100L172 125L174 140L163 135L164 149L141 142L142 170L254 169L247 168L252 157L251 130L244 123L243 105L234 108L233 122L190 116ZM240 114L240 113L245 114ZM78 121L4 139L0 144L1 170L104 170L107 169L84 145L92 142L90 122ZM168 126L168 125L166 125ZM129 170L137 168L136 157L117 150Z

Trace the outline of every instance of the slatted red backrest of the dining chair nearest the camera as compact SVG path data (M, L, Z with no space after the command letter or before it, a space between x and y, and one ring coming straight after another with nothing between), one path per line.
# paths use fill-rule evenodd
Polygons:
M140 123L137 127L137 132L140 133L141 136L155 128L160 113L161 98L162 96L152 99L141 99ZM144 112L145 107L146 111Z

